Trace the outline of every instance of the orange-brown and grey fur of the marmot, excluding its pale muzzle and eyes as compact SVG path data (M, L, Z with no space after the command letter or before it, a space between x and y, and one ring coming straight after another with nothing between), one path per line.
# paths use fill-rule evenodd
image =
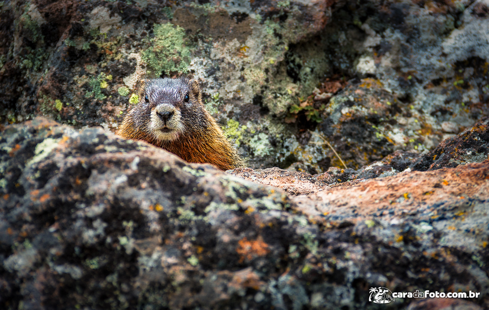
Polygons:
M199 84L195 80L178 78L175 80L165 79L161 83L165 85L155 86L155 80L143 80L137 91L139 102L128 112L117 129L117 134L135 140L144 140L148 143L172 152L188 162L211 163L222 170L244 167L245 161L240 157L238 151L232 147L231 141L227 139L222 129L217 125L215 119L205 110ZM159 139L152 134L151 111L156 108L158 102L170 98L169 91L174 87L175 92L186 91L190 94L190 102L172 99L172 104L181 112L181 122L184 130L178 134L173 141ZM151 84L151 85L150 85ZM147 90L146 86L152 90ZM148 107L144 106L144 97L147 91L158 93L158 87L165 89L166 94L160 95L157 102ZM170 90L168 90L170 89ZM159 100L159 101L158 101Z

